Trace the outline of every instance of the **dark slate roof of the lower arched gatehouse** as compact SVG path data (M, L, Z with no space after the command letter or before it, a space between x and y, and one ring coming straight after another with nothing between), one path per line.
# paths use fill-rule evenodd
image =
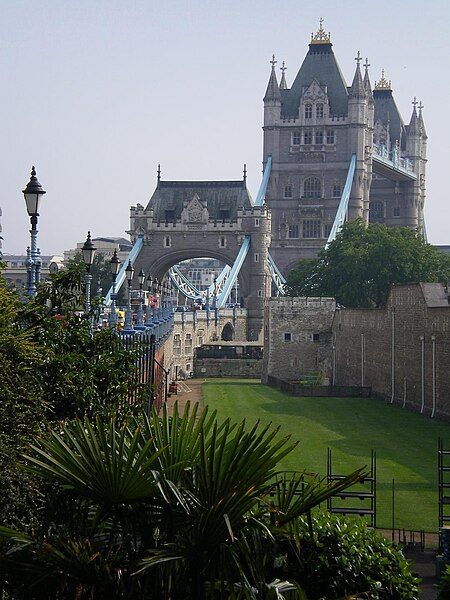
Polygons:
M153 209L153 218L166 220L166 211L171 211L171 220L180 219L186 203L197 196L207 204L209 217L222 220L228 211L228 219L237 217L238 208L253 205L245 180L241 181L159 181L146 210Z

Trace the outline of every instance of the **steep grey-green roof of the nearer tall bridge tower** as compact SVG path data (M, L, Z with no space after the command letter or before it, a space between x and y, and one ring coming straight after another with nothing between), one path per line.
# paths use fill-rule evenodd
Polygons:
M348 108L347 85L332 50L331 42L311 43L297 77L289 90L281 90L282 117L298 114L301 97L315 79L327 88L331 115L346 115Z

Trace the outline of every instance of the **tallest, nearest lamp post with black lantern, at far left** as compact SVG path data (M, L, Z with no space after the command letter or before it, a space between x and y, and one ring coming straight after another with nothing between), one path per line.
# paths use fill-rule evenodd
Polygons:
M39 204L42 196L46 193L42 188L36 177L36 170L34 166L31 168L30 181L27 183L26 188L22 191L25 197L25 203L27 206L28 215L30 216L30 235L31 245L27 248L27 294L29 296L36 295L36 283L40 280L40 267L41 258L39 256L39 250L37 247L37 223L39 216Z

